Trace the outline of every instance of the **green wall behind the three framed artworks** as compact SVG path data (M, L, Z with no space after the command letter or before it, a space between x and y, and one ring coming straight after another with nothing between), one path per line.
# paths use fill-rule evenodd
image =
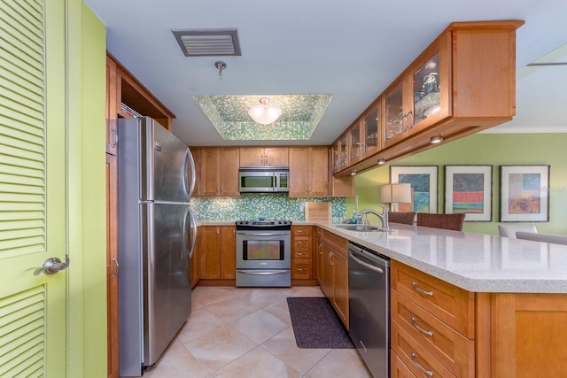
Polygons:
M565 157L567 134L478 134L392 163L392 166L439 166L439 212L444 212L445 165L493 165L493 221L465 222L464 230L498 235L499 166L549 165L549 222L538 222L540 232L567 235L567 163ZM377 167L354 179L359 210L377 209L378 189L390 181L389 166ZM346 201L351 214L353 198Z

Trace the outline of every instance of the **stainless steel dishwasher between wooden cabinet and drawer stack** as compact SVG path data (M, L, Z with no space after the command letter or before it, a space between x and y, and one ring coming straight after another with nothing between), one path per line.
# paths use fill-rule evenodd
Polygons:
M349 335L375 378L390 376L390 260L348 243Z

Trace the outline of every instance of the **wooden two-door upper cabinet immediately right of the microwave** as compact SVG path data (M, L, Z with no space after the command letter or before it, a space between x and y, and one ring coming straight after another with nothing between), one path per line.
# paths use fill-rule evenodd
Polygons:
M329 196L329 148L290 147L290 197Z

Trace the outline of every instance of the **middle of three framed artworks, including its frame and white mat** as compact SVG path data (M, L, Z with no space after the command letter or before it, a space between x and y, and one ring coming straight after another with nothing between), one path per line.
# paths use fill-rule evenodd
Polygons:
M466 221L493 220L493 166L445 166L445 212Z

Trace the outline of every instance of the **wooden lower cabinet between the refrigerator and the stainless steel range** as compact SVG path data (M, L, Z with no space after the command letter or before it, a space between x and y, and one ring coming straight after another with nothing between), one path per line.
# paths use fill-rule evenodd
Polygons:
M235 280L236 226L201 226L198 228L201 280Z

